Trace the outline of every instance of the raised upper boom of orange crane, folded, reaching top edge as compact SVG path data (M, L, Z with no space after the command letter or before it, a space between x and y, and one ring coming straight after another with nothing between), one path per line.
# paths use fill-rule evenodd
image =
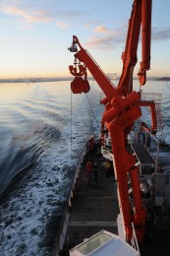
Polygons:
M141 86L146 82L146 70L150 68L151 1L134 0L125 50L122 53L123 69L118 90L126 96L133 91L133 73L137 64L137 50L142 26L142 62L138 73Z

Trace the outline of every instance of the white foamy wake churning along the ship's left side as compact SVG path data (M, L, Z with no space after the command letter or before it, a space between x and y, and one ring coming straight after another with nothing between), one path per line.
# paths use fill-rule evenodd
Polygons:
M49 149L31 177L26 176L8 203L1 206L0 255L48 255L47 224L61 215L70 182L68 166L69 158L58 147Z

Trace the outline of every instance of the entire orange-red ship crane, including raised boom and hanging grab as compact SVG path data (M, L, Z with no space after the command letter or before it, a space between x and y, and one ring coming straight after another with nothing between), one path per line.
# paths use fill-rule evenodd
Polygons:
M78 37L73 36L71 52L75 52L74 65L69 66L70 73L75 77L71 83L74 94L87 93L89 84L87 81L87 69L93 76L105 98L101 103L105 110L101 121L101 137L104 127L108 130L112 143L115 175L117 177L120 212L126 232L126 240L132 238L132 223L135 226L137 238L142 241L144 234L145 210L142 206L142 197L139 181L139 168L136 159L127 149L127 138L134 122L142 116L141 105L151 108L151 131L156 130L156 115L154 102L141 100L141 93L133 91L133 72L138 61L137 50L142 28L142 62L138 74L140 85L146 82L146 71L150 68L150 32L151 32L151 0L134 0L125 51L122 53L123 69L120 81L115 87L103 73L92 56L81 45ZM78 51L78 47L80 48ZM135 209L132 213L128 177L130 176Z

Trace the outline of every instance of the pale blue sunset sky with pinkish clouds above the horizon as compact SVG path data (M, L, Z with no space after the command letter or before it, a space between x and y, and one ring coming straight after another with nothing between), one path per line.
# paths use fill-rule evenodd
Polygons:
M101 69L121 75L133 0L0 0L0 79L67 77L73 34ZM170 76L170 1L152 0L147 76ZM138 73L141 43L138 52Z

